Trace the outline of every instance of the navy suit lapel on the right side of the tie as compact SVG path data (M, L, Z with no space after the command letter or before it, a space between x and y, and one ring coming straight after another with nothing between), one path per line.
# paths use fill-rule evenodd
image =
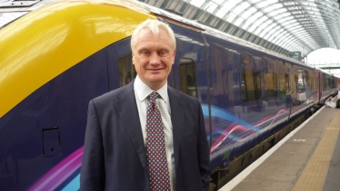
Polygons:
M185 102L180 99L181 95L172 88L168 88L168 95L171 108L171 122L173 125L174 154L175 167L177 167L180 143L183 137L183 129L185 128Z

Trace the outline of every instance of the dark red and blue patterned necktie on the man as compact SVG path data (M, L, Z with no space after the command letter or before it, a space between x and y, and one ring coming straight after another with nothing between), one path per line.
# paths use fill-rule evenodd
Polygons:
M146 158L151 191L171 191L165 153L165 135L161 113L155 105L157 92L150 94L146 117Z

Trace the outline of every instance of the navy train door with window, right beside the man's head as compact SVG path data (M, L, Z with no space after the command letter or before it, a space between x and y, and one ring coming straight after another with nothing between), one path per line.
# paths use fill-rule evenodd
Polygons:
M205 127L211 128L207 54L203 34L192 26L184 27L170 22L168 24L174 30L176 39L175 63L168 84L201 102ZM206 134L210 133L211 129L206 129Z

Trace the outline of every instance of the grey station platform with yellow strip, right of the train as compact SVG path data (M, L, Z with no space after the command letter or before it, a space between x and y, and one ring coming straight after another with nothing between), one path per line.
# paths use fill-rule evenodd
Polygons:
M339 191L340 110L323 107L219 191Z

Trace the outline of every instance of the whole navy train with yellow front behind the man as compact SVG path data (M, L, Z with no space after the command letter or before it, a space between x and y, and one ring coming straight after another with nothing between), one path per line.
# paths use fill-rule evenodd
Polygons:
M210 190L340 87L329 72L137 1L43 0L19 8L18 18L0 26L1 190L79 189L88 102L133 81L130 38L146 19L175 32L168 85L202 104Z

